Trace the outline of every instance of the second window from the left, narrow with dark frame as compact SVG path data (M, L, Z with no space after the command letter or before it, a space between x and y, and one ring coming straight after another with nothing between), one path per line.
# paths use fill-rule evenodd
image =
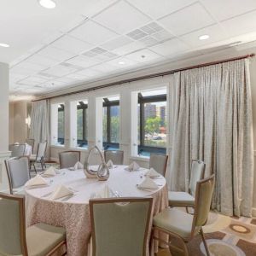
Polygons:
M88 103L86 101L77 102L77 146L87 148L88 132Z

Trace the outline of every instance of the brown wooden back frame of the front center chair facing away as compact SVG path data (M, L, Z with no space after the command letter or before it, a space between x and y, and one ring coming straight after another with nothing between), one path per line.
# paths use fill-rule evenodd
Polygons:
M91 237L92 237L92 256L96 256L96 234L95 234L95 222L94 222L94 215L93 215L93 206L95 204L102 204L102 203L129 203L129 202L149 202L148 207L148 216L147 216L147 223L146 223L146 230L143 238L143 255L146 256L147 251L147 239L148 239L148 231L150 230L149 223L151 218L152 212L152 204L153 198L152 197L122 197L122 198L111 198L111 199L92 199L89 201L90 205L90 224L91 224Z

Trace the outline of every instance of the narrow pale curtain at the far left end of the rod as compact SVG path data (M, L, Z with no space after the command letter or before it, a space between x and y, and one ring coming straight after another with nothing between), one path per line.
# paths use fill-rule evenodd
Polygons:
M38 143L47 141L46 157L49 157L49 100L32 102L30 137L35 140L34 150Z

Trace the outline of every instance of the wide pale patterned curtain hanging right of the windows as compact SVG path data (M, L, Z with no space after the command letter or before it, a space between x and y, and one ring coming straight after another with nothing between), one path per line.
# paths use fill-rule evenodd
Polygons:
M171 76L172 158L169 185L189 190L191 160L215 174L212 208L251 216L253 120L248 60L230 61Z

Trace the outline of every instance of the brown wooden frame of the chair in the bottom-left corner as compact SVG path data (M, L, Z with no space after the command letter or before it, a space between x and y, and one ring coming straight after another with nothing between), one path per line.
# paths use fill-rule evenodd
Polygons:
M26 247L25 197L24 195L8 195L8 194L0 193L0 198L18 201L19 209L20 209L20 248L21 248L22 255L29 256L27 252L27 247ZM53 253L56 252L57 249L59 249L63 245L65 245L67 248L66 240L61 241L59 244L57 244L49 253L46 254L46 256L52 255ZM66 250L66 253L63 253L62 255L67 255L67 250Z

